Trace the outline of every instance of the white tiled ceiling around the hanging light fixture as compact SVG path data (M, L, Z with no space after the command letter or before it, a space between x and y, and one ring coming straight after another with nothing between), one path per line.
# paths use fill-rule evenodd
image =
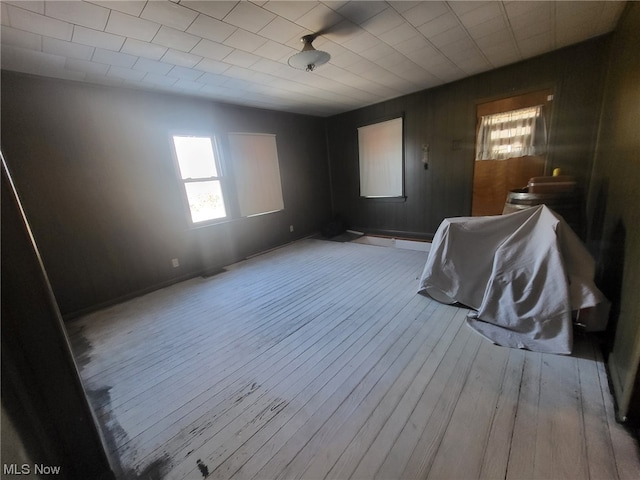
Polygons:
M2 1L2 69L328 116L612 31L621 1ZM303 35L331 55L288 58Z

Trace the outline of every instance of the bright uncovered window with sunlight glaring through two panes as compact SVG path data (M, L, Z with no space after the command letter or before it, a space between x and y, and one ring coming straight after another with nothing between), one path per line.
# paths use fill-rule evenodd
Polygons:
M220 165L210 137L174 136L173 145L193 223L227 216Z

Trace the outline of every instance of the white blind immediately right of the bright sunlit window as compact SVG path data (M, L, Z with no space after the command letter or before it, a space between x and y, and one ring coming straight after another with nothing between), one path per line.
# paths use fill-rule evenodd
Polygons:
M238 203L243 217L284 209L276 136L230 133Z

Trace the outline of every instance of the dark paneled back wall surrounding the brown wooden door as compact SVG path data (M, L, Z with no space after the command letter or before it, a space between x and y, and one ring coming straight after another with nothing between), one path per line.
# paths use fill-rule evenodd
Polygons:
M354 228L433 235L440 222L471 214L476 106L530 91L555 92L549 165L586 189L593 161L609 37L594 39L442 87L329 118L333 209ZM405 202L359 197L357 127L405 118ZM421 163L430 145L429 169Z

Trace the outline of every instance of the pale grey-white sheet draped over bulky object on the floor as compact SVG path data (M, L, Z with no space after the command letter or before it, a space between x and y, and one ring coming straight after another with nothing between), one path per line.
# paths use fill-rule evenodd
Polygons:
M608 303L594 274L593 258L571 227L540 205L445 219L419 292L436 288L474 309L468 324L498 345L569 354L572 310ZM591 316L587 330L604 329L606 320Z

